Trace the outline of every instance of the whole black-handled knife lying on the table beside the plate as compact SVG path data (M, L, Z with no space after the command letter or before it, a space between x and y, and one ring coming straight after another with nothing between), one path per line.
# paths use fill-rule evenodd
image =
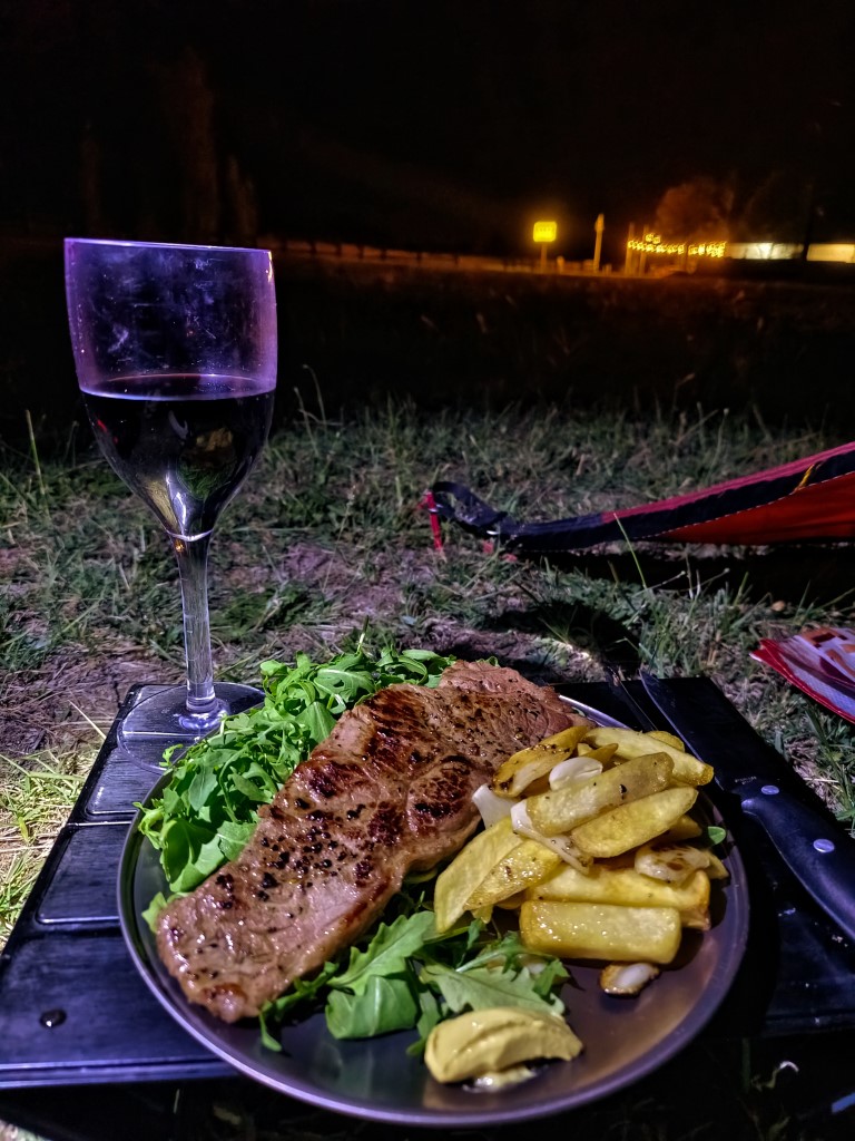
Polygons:
M648 696L714 780L764 830L796 879L855 942L855 841L708 678L642 671Z

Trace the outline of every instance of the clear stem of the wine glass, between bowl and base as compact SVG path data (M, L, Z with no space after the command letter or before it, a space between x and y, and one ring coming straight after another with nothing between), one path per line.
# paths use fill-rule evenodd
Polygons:
M213 713L217 697L211 661L211 626L207 617L207 548L211 534L187 540L172 535L178 560L184 607L184 641L187 655L187 711L193 717Z

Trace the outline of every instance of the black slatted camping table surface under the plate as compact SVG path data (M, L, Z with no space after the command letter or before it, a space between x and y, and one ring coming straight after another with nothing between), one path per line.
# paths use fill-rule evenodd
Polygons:
M726 706L734 731L748 731L712 682L682 681L687 683ZM603 683L559 688L633 723L632 705L619 690ZM625 688L636 707L661 723L641 687L629 682ZM0 1119L57 1141L113 1138L117 1120L128 1141L424 1133L317 1110L237 1076L161 1008L139 977L120 928L116 877L133 806L158 772L119 746L116 729L146 691L135 687L129 693L0 956ZM714 755L705 759L715 764ZM147 760L156 763L153 755ZM699 1120L716 1101L733 1097L748 1107L744 1135L763 1136L750 1109L763 1089L775 1112L803 1131L792 1136L852 1130L855 947L804 895L752 822L735 817L732 806L719 808L746 863L751 904L748 950L727 998L698 1039L659 1071L584 1114L546 1119L546 1138L581 1124L597 1131L584 1135L600 1135L614 1127L616 1114L624 1119L618 1135L663 1135L661 1126L656 1134L633 1132L644 1124L637 1107L652 1112L651 1107L667 1109L669 1099L674 1104L685 1100L675 1091L698 1083L699 1067ZM626 1119L630 1103L636 1107L632 1124ZM477 1135L504 1135L510 1128Z

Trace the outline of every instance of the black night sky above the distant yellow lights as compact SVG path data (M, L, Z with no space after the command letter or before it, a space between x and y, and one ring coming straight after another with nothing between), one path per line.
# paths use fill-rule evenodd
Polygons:
M708 176L734 225L772 180L853 238L854 11L2 0L0 226L511 252L549 213L572 256Z

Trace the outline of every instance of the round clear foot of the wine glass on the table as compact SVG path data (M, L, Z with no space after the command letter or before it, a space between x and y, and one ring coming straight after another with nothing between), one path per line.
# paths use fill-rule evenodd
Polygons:
M214 685L215 709L205 718L188 717L185 686L164 686L142 697L119 726L121 747L147 769L162 769L164 750L170 745L192 745L214 733L223 718L243 713L264 699L261 689L234 681Z

